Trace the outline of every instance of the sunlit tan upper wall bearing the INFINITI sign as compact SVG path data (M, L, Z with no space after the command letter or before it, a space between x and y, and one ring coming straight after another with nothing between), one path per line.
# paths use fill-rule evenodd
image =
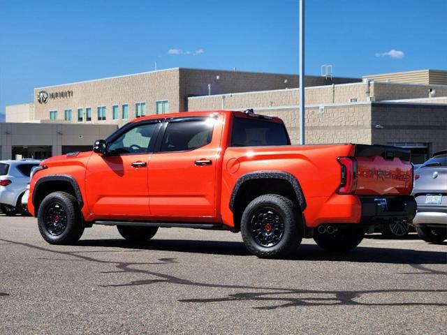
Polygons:
M46 104L38 103L39 91L48 94L73 91L73 96L48 99ZM159 70L138 75L125 75L101 80L91 80L54 87L34 89L36 119L49 119L50 110L57 110L58 120L64 120L64 110L72 110L73 124L78 123L78 107L85 113L91 107L91 124L125 124L122 119L122 105L129 104L129 119L135 118L135 103L146 103L146 114L155 114L156 101L169 101L169 110L179 110L179 69ZM106 106L105 121L98 121L97 107ZM112 120L112 105L118 105L119 119ZM84 121L86 123L86 121Z

